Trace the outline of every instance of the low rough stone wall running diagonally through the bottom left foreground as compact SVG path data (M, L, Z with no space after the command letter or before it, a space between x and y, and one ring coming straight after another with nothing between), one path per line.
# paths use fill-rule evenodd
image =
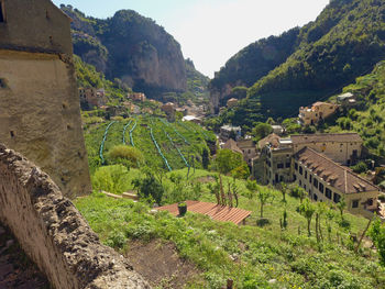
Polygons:
M0 221L55 288L150 288L45 173L1 144Z

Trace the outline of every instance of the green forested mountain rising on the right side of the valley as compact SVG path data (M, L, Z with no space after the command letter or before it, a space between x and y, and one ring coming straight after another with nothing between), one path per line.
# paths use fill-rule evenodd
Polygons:
M336 93L385 58L384 20L384 0L332 0L316 21L233 56L210 82L211 102L218 108L234 86L251 86L229 121L252 125L294 115L298 107ZM244 114L250 101L260 103L254 116Z

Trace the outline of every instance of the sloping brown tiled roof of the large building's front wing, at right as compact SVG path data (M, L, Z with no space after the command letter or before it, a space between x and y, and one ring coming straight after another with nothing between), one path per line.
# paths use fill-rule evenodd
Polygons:
M331 187L343 193L380 190L372 182L355 175L349 168L334 163L332 159L309 147L300 149L295 155L295 158L312 170L312 173L317 174L318 177L329 182Z

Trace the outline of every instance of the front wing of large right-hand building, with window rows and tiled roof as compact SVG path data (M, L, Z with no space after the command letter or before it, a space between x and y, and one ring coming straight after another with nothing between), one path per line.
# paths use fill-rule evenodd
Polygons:
M295 154L296 182L315 201L338 203L341 198L346 209L372 218L377 210L380 189L327 156L305 147Z

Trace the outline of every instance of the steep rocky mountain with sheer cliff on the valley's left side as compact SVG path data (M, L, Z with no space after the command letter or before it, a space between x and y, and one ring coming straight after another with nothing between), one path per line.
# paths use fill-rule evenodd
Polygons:
M151 98L187 89L180 45L162 26L132 10L101 20L61 5L72 19L74 53L108 79L119 78Z

